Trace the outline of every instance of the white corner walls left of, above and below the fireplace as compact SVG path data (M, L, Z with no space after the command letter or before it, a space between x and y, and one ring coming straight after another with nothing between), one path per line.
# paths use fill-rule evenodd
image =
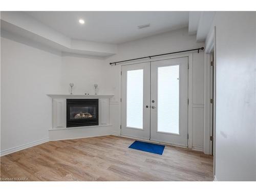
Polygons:
M52 128L52 98L47 94L113 94L109 65L97 57L62 54L23 37L1 34L1 155L47 142ZM116 105L111 105L110 110ZM113 119L113 117L110 117ZM113 121L113 120L112 120ZM112 126L97 127L96 136L111 134ZM89 137L77 129L63 138ZM57 138L57 137L55 137Z

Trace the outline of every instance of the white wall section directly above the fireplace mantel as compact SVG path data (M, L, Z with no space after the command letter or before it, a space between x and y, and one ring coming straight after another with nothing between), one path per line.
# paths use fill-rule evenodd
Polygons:
M70 93L69 83L74 83L74 94L94 95L94 84L98 84L98 94L112 95L109 66L104 60L76 56L62 56L61 90Z

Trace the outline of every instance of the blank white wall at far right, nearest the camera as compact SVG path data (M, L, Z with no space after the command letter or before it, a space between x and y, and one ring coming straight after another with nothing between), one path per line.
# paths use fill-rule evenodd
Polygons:
M217 12L212 26L218 181L256 180L255 24L254 12Z

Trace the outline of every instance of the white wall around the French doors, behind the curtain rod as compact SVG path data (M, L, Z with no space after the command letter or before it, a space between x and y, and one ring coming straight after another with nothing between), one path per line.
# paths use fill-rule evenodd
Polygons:
M188 35L188 29L154 35L118 45L118 53L105 60L109 62L162 54L180 50L200 48L204 42L196 42L196 36ZM203 110L204 110L204 54L193 53L193 148L203 151ZM120 100L120 65L110 67L110 85L115 99ZM120 111L116 112L119 115ZM116 124L120 125L120 122ZM120 133L120 127L114 126L113 132Z

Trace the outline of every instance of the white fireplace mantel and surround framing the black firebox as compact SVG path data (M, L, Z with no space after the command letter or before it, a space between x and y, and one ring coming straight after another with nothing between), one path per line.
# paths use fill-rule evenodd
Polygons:
M99 125L110 125L109 104L114 95L64 95L48 94L53 99L53 127L52 129L67 129L67 99L99 99ZM84 126L86 128L87 126ZM71 129L74 129L72 127ZM79 127L82 128L82 127ZM70 128L69 128L70 129Z

